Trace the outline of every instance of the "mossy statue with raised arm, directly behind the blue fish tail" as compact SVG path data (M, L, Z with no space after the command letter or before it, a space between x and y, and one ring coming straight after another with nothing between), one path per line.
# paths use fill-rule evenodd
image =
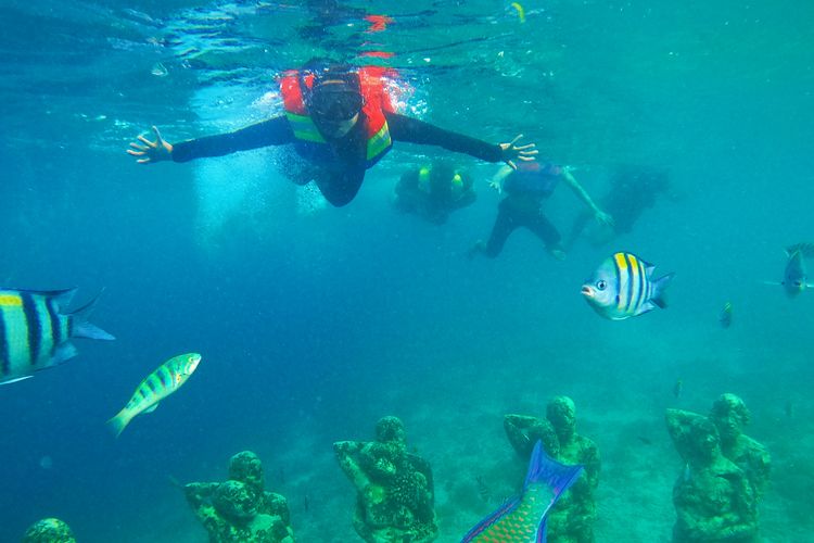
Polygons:
M562 495L548 516L549 543L593 543L596 521L594 491L599 482L599 451L588 438L576 433L576 407L568 396L548 403L546 418L506 415L504 428L520 458L529 458L537 440L558 460L585 467L584 473Z

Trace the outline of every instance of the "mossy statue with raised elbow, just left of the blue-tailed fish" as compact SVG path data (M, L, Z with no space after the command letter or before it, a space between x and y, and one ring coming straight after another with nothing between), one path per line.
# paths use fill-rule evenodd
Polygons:
M376 441L333 444L356 487L354 529L369 543L422 543L438 534L430 464L407 452L404 424L384 417Z

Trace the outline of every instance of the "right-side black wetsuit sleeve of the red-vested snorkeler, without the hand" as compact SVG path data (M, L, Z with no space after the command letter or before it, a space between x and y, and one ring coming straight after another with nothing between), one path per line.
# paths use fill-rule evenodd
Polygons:
M500 162L503 160L500 146L444 130L430 123L397 113L385 113L385 117L390 127L390 136L395 141L443 147L449 151L466 153L486 162Z

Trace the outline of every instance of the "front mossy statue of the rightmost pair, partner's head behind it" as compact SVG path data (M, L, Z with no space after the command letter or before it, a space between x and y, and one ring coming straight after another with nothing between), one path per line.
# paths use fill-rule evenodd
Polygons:
M758 542L755 492L746 472L722 453L713 421L667 409L666 425L685 463L673 485L673 542Z

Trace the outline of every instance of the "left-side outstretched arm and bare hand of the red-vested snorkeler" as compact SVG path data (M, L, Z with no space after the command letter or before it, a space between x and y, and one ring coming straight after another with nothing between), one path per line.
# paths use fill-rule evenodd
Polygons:
M268 121L246 126L233 132L218 134L203 138L169 143L161 137L153 126L155 141L139 136L139 142L131 142L129 154L136 156L139 164L173 161L188 162L207 156L222 156L238 151L247 151L269 146L283 146L294 141L294 132L288 119L280 115Z

